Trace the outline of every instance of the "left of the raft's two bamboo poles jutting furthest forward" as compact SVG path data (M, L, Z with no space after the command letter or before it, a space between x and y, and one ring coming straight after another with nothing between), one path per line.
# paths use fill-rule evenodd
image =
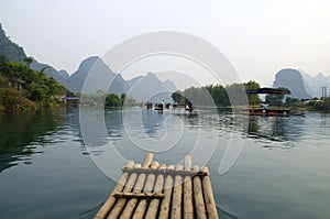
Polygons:
M152 153L147 153L145 155L145 158L144 158L144 162L143 162L143 168L147 168L151 163L152 163L152 160L153 160L153 154ZM136 184L134 186L134 190L133 193L141 193L142 190L142 187L144 185L144 182L145 182L145 178L146 178L146 174L140 174L139 177L138 177L138 180L136 180ZM138 199L136 198L132 198L129 200L129 202L127 204L127 206L124 207L120 218L121 219L124 219L124 218L131 218L132 215L133 215L133 211L135 209L135 206L136 206L136 202L138 202Z

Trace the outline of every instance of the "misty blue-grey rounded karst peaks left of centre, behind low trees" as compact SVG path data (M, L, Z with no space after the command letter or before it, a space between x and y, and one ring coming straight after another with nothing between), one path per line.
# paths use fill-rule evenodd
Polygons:
M84 85L87 77L90 77L89 81L91 83ZM163 83L153 73L124 80L120 74L113 73L98 56L84 59L67 81L68 88L74 92L81 92L82 86L85 86L85 94L108 88L108 92L119 96L127 94L128 97L139 101L162 101L162 99L172 101L170 94L177 89L173 81ZM102 91L106 90L102 89Z

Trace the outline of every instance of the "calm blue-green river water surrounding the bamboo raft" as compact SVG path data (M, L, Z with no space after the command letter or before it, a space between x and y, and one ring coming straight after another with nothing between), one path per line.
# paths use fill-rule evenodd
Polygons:
M92 218L146 151L209 166L221 218L330 218L330 114L141 108L1 113L0 218Z

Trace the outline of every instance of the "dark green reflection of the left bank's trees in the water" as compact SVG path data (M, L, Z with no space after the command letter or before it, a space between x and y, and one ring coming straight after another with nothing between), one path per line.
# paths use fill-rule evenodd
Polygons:
M61 139L51 135L64 123L63 111L0 113L0 172L16 165L31 164L31 155L43 153L44 145Z

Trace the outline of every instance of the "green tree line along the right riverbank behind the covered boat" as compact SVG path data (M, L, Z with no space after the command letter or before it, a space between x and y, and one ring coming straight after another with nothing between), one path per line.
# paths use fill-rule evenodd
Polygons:
M250 102L251 106L260 106L262 102L270 107L282 106L292 110L330 111L330 97L314 99L296 99L289 96L266 95L264 100L257 95L246 96L246 90L258 89L260 84L251 80L244 84L232 84L228 86L208 85L205 87L190 87L183 91L172 94L175 102L187 105L189 101L195 106L216 106L220 108L242 107ZM278 88L287 89L287 88ZM228 95L230 94L230 95ZM280 101L284 99L284 102Z

